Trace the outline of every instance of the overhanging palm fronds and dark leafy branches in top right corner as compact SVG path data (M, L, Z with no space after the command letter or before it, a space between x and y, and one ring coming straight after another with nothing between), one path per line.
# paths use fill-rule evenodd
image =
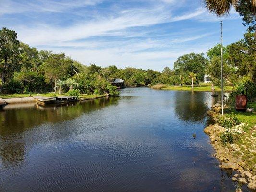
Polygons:
M227 15L233 6L235 10L242 16L243 25L249 26L250 31L254 31L256 27L256 0L204 0L207 9L218 16ZM256 30L254 34L256 39Z

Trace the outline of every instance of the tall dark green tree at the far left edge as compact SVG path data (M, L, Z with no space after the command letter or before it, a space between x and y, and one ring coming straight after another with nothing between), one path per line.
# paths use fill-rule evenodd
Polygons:
M7 75L12 73L20 60L20 42L17 33L3 27L0 30L0 73L2 84L6 83ZM10 74L11 73L11 74ZM2 87L0 93L2 92Z

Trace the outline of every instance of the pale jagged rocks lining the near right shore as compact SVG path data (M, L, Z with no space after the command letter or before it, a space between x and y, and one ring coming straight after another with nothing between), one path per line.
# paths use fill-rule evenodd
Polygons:
M228 106L226 105L224 106L224 108L227 107ZM236 170L237 173L232 177L234 182L247 184L249 189L256 191L256 164L248 166L248 162L246 162L246 154L248 154L248 152L251 156L256 155L256 126L251 128L249 135L242 129L238 130L241 132L241 135L245 135L244 137L241 137L241 144L223 144L221 135L227 128L218 124L220 111L221 105L218 103L211 107L207 114L214 120L215 124L209 125L204 129L204 132L209 135L211 144L216 150L216 153L213 154L213 156L218 158L221 162L219 166L220 168ZM235 128L237 127L238 126ZM237 129L239 129L239 127ZM245 151L246 154L244 153Z

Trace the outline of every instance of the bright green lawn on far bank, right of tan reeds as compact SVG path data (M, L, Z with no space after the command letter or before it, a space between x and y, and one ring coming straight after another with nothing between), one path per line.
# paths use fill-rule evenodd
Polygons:
M175 90L175 91L192 91L191 86L166 86L165 88L162 88L162 90ZM194 86L193 91L209 91L211 92L211 86L208 85L201 85L198 87L197 85ZM220 88L215 87L215 91L221 91ZM232 91L232 86L225 86L224 91Z

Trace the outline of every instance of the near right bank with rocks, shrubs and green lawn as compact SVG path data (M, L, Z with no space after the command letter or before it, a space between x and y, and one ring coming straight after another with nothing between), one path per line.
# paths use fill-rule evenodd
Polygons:
M255 102L249 103L248 107L252 106L255 110ZM215 124L204 130L216 150L213 156L220 160L220 168L234 170L232 180L237 186L246 184L249 189L256 190L256 113L235 112L220 116L220 111L219 104L211 107L207 114Z

